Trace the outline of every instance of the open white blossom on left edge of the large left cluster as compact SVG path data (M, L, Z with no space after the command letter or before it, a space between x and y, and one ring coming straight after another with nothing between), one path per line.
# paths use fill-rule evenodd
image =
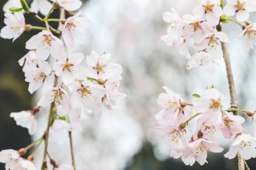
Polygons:
M38 67L33 65L28 67L25 71L25 81L30 83L28 91L34 93L40 87L42 87L42 91L49 89L54 81L51 71L51 66L46 61L38 62Z

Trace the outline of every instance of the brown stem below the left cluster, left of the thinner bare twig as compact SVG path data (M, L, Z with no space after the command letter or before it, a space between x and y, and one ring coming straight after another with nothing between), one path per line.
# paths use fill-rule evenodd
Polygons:
M57 87L58 84L58 77L55 76L55 82L54 82L54 87ZM55 107L55 102L53 101L53 103L51 103L51 108L50 108L50 112L49 112L49 117L48 117L48 124L47 124L47 128L46 128L46 132L44 134L44 154L42 157L42 166L41 166L41 170L47 170L47 149L48 149L48 143L49 143L49 131L50 131L50 126L51 126L51 118L53 115L53 108Z

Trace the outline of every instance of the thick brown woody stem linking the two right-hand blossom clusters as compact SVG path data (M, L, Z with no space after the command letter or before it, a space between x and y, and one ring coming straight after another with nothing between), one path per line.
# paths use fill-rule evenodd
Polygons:
M220 24L217 26L217 30L219 32L222 31L222 26L220 26ZM226 65L226 74L228 78L230 105L231 105L231 108L237 108L238 106L237 106L236 90L234 88L234 77L233 77L232 67L230 62L230 54L228 52L228 49L226 48L225 42L221 42L221 44L222 44L223 58ZM234 111L233 113L236 114L236 111ZM237 154L237 159L238 159L238 170L245 170L245 160L243 159L243 157L241 157L239 153Z

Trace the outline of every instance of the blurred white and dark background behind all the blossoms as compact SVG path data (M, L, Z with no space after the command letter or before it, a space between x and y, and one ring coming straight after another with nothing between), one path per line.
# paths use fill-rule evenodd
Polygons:
M1 0L1 8L5 2ZM174 7L179 14L187 14L195 5L195 0L84 1L82 10L92 25L85 31L86 44L72 50L84 54L91 50L110 52L113 62L123 66L120 91L127 93L127 97L113 110L104 110L101 118L88 118L83 131L73 134L77 170L237 169L236 159L223 156L232 141L220 141L224 153L210 154L207 164L195 163L190 167L180 159L169 157L170 150L163 137L154 130L157 125L154 115L160 110L156 99L163 91L162 86L170 87L187 101L191 101L191 94L201 94L212 84L229 96L223 60L216 73L203 69L187 71L187 59L160 40L168 27L162 21L162 13ZM3 11L0 13L0 28L3 28ZM27 24L34 23L30 17L26 18ZM256 22L255 15L251 19ZM256 110L255 50L249 54L243 51L237 39L242 30L236 25L225 24L224 32L230 36L228 48L239 108ZM45 130L48 109L38 114L38 132L32 138L26 129L16 126L9 118L11 112L30 110L38 101L36 95L28 92L28 83L18 65L18 59L27 52L26 41L34 34L36 32L25 32L13 43L0 39L0 150L27 146ZM245 131L253 134L251 120L245 124ZM49 148L57 163L71 162L68 144L67 132L51 132ZM36 164L40 165L41 151L37 155ZM256 169L253 159L248 164ZM0 169L4 166L0 165Z

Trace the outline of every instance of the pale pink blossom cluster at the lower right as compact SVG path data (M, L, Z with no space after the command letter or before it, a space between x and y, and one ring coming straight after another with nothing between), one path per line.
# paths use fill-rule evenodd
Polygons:
M181 157L185 165L200 165L207 163L207 153L221 153L223 148L218 141L221 138L231 139L228 153L224 157L233 159L237 153L247 160L256 157L256 138L246 134L242 124L245 118L233 115L229 102L220 91L206 89L202 96L194 94L191 103L183 100L180 95L163 87L166 93L158 97L162 110L156 114L159 126L156 130L164 134L171 148L170 156L174 159ZM251 111L243 111L253 116ZM196 119L193 134L189 134L188 124Z

